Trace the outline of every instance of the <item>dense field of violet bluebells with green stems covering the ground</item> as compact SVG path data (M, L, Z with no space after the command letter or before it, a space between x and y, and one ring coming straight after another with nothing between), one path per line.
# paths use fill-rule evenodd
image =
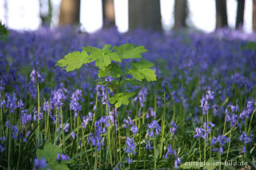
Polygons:
M243 48L246 40L256 37L10 31L0 41L0 168L256 168L256 52ZM56 63L86 45L127 42L148 49L142 55L158 80L126 85L136 94L114 112L114 149L110 93L97 85L97 70Z

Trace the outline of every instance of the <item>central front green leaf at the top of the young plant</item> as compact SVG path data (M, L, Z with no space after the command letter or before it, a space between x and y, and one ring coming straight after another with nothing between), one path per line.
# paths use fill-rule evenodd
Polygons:
M111 61L122 62L122 58L117 52L112 52L111 45L104 45L102 49L98 49L92 46L82 47L84 51L90 53L90 61L95 61L95 65L99 69L105 71L106 67L111 64Z

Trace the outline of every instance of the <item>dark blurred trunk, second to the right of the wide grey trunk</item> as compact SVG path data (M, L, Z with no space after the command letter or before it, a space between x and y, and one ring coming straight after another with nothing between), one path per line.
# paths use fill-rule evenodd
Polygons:
M216 2L216 29L228 26L226 14L226 0L215 0Z

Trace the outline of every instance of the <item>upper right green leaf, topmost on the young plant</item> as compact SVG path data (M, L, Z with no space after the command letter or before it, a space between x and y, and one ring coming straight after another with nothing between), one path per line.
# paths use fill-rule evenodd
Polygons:
M147 51L144 46L134 46L130 43L120 46L114 45L113 49L118 52L122 59L139 58L142 57L142 53Z

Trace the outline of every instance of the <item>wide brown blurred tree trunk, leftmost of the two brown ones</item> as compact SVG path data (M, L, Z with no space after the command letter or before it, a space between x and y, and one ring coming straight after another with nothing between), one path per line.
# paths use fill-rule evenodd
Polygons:
M62 0L58 26L76 25L80 20L80 0Z

